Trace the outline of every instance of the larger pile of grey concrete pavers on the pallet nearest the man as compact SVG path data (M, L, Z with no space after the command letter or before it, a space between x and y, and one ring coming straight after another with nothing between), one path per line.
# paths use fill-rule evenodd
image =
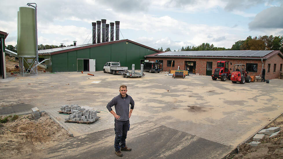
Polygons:
M61 107L62 108L62 107ZM96 110L86 110L81 108L78 104L72 104L70 107L71 113L69 118L66 118L65 121L84 121L84 122L94 122L97 118Z

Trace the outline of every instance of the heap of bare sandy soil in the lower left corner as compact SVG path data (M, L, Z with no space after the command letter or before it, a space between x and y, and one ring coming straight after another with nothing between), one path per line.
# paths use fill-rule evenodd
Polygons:
M31 114L20 116L14 121L0 123L0 156L30 158L68 138L67 131L45 113L38 120L32 120Z

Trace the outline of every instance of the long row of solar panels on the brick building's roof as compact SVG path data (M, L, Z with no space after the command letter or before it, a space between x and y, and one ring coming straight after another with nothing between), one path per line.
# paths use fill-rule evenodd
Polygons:
M225 51L168 51L156 56L232 56L263 57L273 50L225 50Z

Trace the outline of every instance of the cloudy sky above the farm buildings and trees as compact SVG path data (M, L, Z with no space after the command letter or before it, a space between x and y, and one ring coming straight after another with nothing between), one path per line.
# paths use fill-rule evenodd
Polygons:
M29 2L38 6L38 44L43 45L91 43L91 22L101 19L120 21L124 39L155 49L203 42L231 48L248 36L283 35L282 0L6 0L0 2L6 46L16 45L17 11Z

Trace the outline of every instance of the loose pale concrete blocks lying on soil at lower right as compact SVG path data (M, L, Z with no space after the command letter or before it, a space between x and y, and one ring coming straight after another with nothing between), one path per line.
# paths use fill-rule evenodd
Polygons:
M260 130L255 136L253 136L253 141L248 143L251 146L258 146L260 144L259 140L263 139L265 135L272 138L280 132L280 127L270 127L268 129Z

